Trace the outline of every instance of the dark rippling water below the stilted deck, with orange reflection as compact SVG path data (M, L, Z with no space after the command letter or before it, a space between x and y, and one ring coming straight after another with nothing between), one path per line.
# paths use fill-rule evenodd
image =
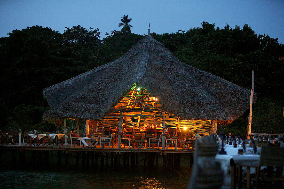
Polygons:
M99 163L97 168L89 166L88 169L81 167L76 170L75 157L72 154L68 157L68 169L64 165L57 167L56 155L49 154L48 168L39 164L38 160L32 162L31 155L27 152L25 165L17 162L11 166L11 152L4 152L1 159L0 188L186 188L190 176L189 168L186 167L189 156L186 155L181 156L181 168L178 170L184 177L175 171L163 171L161 157L154 168L143 167L142 161L141 165L129 169L101 169ZM79 162L79 165L82 163Z

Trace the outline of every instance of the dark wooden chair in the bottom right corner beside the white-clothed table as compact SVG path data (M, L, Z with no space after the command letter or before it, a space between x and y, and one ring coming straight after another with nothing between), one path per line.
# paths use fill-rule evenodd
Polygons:
M284 177L282 177L282 170L284 166L284 148L279 148L275 146L262 146L260 151L260 159L258 165L243 165L243 164L237 164L239 166L239 170L242 169L242 167L247 167L247 174L246 177L243 178L243 180L247 181L247 188L250 188L250 181L254 180L256 182L256 188L259 188L260 182L280 182L282 183L284 181ZM281 166L281 174L277 175L276 173L265 173L261 172L260 168L261 166ZM250 167L254 167L256 169L256 177L255 179L251 177L250 175ZM262 175L261 175L262 173ZM241 177L242 174L238 174L239 177ZM238 180L241 180L240 178ZM241 184L240 184L241 185ZM238 186L239 188L241 186ZM271 185L270 185L271 187ZM277 186L279 188L282 188L283 186Z

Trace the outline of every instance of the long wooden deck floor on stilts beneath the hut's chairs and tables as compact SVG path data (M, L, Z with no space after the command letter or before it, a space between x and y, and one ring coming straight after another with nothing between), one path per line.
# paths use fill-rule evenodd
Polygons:
M108 146L105 146L105 148L100 148L97 146L96 148L86 148L86 147L71 147L71 144L68 144L67 147L60 146L60 145L49 145L49 146L24 146L24 143L22 143L22 146L16 145L3 145L0 146L0 149L11 149L11 150L60 150L60 151L67 151L67 152L147 152L147 153L183 153L183 154L193 154L194 150L184 150L182 148L175 149L174 147L170 147L168 149L162 150L161 148L129 148L126 146L125 148L122 146L122 148L118 149L117 146L113 146L113 148L108 148Z

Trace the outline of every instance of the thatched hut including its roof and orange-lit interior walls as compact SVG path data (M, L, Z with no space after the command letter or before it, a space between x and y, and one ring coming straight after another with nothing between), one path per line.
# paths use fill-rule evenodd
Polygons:
M124 56L44 89L45 120L87 120L101 127L160 124L216 132L249 107L250 91L179 61L148 33Z

